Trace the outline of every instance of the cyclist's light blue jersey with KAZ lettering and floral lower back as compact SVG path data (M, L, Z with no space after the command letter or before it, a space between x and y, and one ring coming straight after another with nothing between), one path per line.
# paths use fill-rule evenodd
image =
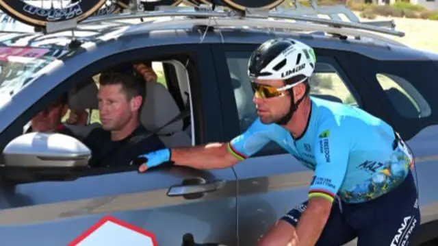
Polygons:
M231 140L229 151L243 160L272 140L315 171L309 197L333 201L337 195L358 203L398 186L412 168L411 151L395 139L392 127L368 112L311 97L309 122L300 138L257 119Z

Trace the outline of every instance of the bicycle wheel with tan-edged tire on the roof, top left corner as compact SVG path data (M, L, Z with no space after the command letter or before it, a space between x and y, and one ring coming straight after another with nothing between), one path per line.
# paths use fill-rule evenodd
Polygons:
M12 18L27 25L46 27L47 23L71 19L76 19L79 23L98 11L106 1L86 0L78 1L66 8L40 8L20 0L0 0L0 9Z

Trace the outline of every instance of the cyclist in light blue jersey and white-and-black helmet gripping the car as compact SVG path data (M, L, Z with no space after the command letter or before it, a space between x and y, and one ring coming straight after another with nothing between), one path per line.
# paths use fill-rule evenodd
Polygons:
M248 63L259 115L248 130L229 143L146 153L139 171L168 161L227 168L273 140L314 176L309 199L281 217L259 245L343 245L356 237L358 245L409 245L420 225L409 147L381 119L310 97L315 62L302 42L264 42Z

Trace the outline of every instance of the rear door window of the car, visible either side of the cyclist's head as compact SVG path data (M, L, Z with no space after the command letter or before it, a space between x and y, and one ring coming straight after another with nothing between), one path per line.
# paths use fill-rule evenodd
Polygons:
M234 90L235 103L240 121L240 131L244 132L257 118L253 103L253 89L247 74L248 52L228 52L227 64ZM322 59L320 59L322 60ZM357 106L357 100L350 93L338 71L328 62L317 62L311 77L311 95L331 101L339 101Z

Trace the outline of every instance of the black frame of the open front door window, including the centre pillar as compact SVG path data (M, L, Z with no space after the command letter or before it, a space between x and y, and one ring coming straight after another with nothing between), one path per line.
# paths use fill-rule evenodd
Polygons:
M32 106L27 108L25 112L21 114L3 131L0 133L0 143L4 143L0 146L0 153L7 143L13 138L23 133L23 125L25 125L31 116L35 115L40 108L44 108L51 101L54 101L59 95L70 90L73 86L79 84L87 77L100 73L105 68L120 64L122 62L136 62L145 59L151 60L168 60L168 58L176 58L177 54L183 54L184 56L196 56L192 57L192 62L187 62L190 88L192 93L192 104L194 113L194 136L195 144L208 143L210 141L222 140L222 125L221 119L212 117L211 108L216 108L220 105L219 95L217 90L211 90L211 83L216 84L216 73L212 66L211 53L209 52L209 45L199 44L175 44L167 46L153 46L142 47L140 49L131 49L129 51L122 51L110 56L104 56L96 62L90 64L83 64L82 69L77 72L71 72L68 79L59 82L55 88L50 90L49 93L43 95L38 101L32 103ZM80 56L84 56L82 53ZM151 55L153 54L153 55ZM196 71L194 71L196 70ZM35 81L38 83L38 79ZM209 82L206 86L205 82ZM208 97L203 97L203 93L209 93ZM205 94L204 94L205 95ZM0 154L0 163L2 162ZM102 175L107 173L120 173L125 171L136 170L136 167L110 167L105 169L90 169L85 173L81 173L79 177L86 177L90 175Z

